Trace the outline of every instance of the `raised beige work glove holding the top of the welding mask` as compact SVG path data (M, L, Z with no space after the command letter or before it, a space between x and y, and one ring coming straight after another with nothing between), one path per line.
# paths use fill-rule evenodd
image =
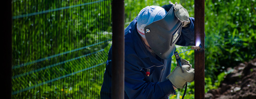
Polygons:
M181 21L182 27L187 27L190 23L187 9L185 9L180 4L177 4L177 2L173 4L171 1L169 1L169 4L172 4L174 6L174 14L178 18L178 20Z

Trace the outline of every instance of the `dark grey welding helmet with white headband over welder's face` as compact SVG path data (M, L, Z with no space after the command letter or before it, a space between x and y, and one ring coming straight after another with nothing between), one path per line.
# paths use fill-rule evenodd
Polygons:
M163 19L152 22L154 16L162 8L167 11L167 14ZM174 15L174 6L172 4L164 5L162 8L154 9L148 22L142 24L139 28L143 28L145 38L152 50L160 58L169 59L176 49L175 43L181 34L182 23Z

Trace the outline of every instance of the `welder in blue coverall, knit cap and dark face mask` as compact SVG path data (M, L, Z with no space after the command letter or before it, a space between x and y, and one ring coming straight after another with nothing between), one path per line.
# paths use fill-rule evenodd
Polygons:
M182 59L172 73L172 56L179 46L194 46L194 21L180 4L147 6L125 28L124 98L167 99L194 81L194 69ZM109 50L101 98L111 98L112 47ZM182 73L181 69L184 70Z

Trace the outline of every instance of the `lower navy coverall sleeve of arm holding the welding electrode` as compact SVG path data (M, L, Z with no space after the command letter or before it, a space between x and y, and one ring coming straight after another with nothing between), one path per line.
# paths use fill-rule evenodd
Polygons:
M144 74L137 66L125 61L124 90L130 99L163 99L174 94L172 83L167 79L163 82L146 82Z

